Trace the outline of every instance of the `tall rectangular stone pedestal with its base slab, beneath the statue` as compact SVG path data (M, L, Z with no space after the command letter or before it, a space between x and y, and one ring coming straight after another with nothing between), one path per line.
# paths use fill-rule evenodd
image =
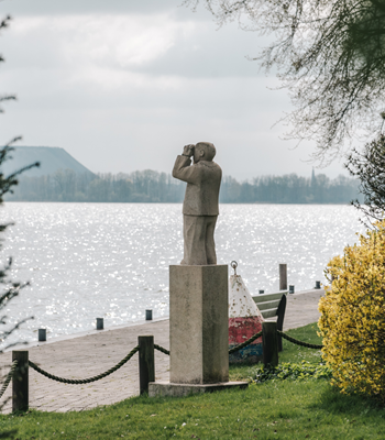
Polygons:
M248 383L229 381L228 266L169 266L169 383L150 396L182 396Z

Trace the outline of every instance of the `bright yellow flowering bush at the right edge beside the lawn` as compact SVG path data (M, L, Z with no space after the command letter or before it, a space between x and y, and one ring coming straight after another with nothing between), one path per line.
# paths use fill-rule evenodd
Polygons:
M332 383L385 400L385 221L333 257L326 276L318 324Z

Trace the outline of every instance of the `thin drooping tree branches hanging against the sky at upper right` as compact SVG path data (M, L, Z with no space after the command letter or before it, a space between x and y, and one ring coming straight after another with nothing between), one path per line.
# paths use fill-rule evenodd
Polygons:
M354 133L378 133L384 110L385 1L186 0L223 25L270 33L274 42L255 58L278 69L295 110L287 138L312 139L315 157L332 160Z

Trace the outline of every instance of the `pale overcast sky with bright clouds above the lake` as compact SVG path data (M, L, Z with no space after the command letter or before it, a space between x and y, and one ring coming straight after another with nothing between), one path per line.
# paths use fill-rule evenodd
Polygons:
M238 179L310 176L311 143L294 148L273 127L290 111L286 90L258 72L264 41L237 23L218 30L182 0L3 0L0 36L4 143L61 146L92 172L169 173L185 144L217 146ZM341 163L322 170L345 174Z

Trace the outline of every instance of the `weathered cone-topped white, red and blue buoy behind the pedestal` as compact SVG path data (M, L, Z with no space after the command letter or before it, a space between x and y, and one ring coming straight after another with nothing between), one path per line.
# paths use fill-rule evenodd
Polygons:
M237 262L232 262L231 266L234 275L229 280L229 349L260 332L264 321L241 275L237 275ZM244 349L229 354L230 363L256 363L261 360L262 337Z

